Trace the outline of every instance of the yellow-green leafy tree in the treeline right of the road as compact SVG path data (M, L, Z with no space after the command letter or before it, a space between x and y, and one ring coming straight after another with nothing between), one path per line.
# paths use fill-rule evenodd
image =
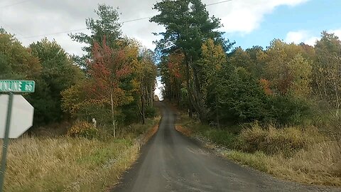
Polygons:
M302 46L280 40L271 41L269 48L259 54L259 60L266 63L264 79L269 80L274 93L308 97L312 69L303 54Z

